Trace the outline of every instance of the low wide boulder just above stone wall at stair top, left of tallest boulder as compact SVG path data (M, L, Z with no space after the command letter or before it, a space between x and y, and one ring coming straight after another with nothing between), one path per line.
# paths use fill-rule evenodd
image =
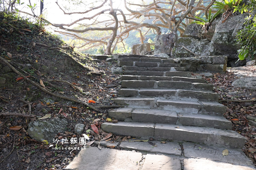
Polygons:
M184 48L185 47L185 48ZM198 40L195 38L181 37L175 43L172 57L196 57L214 55L214 49L207 39Z

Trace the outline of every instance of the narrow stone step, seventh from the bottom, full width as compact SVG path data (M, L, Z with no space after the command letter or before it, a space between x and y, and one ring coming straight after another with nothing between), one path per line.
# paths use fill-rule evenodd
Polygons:
M191 77L190 71L123 71L124 75Z

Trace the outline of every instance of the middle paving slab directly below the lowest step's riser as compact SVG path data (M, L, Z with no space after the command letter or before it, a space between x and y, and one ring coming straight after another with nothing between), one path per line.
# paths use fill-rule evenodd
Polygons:
M119 145L119 148L123 149L129 149L129 150L138 150L142 152L158 152L162 154L170 154L170 155L176 155L181 156L181 148L179 146L179 143L177 142L169 142L161 143L161 141L153 140L152 142L155 143L157 146L152 146L148 142L132 142L126 141L121 142Z

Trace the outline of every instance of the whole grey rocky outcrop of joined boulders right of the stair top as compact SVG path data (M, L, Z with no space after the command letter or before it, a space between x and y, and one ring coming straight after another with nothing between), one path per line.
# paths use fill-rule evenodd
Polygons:
M236 33L242 29L244 18L245 15L237 15L230 16L225 22L221 19L214 20L209 30L202 33L205 37L202 40L198 39L201 34L200 31L197 31L195 24L187 26L183 37L179 38L172 48L172 57L226 55L228 56L228 67L245 65L245 60L237 62L239 47L235 41Z

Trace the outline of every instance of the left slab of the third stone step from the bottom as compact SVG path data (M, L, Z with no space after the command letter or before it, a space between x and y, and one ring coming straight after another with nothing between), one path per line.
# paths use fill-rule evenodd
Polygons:
M155 107L154 98L136 98L136 97L118 97L114 99L114 103L118 105L135 105L140 107Z

